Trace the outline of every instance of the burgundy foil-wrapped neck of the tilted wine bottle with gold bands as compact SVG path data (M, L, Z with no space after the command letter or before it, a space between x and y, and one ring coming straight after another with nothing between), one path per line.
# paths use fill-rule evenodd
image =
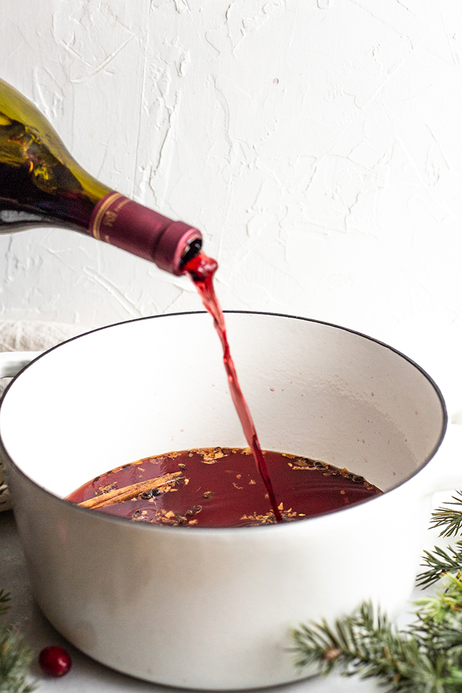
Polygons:
M111 191L97 202L88 225L90 234L140 258L155 262L170 274L183 274L190 249L200 250L199 230L158 214L129 197Z

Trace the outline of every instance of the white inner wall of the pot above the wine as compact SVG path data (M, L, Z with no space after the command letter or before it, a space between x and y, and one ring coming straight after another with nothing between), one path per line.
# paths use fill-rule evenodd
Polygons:
M226 320L263 449L346 467L383 491L435 453L444 402L400 353L304 318ZM57 496L141 457L246 446L204 313L120 323L48 351L10 385L0 435L10 460Z

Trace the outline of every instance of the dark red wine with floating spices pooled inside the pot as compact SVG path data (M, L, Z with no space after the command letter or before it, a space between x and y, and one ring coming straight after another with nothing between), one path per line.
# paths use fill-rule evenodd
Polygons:
M100 512L138 522L170 526L242 527L274 524L265 484L249 465L250 449L211 448L146 457L106 472L66 500L95 503ZM309 458L265 452L283 501L279 514L293 521L339 510L381 493L363 477ZM177 475L173 477L173 475ZM153 479L171 480L153 486ZM145 479L146 490L123 502L111 499ZM120 497L120 496L119 496ZM112 502L104 503L109 498Z

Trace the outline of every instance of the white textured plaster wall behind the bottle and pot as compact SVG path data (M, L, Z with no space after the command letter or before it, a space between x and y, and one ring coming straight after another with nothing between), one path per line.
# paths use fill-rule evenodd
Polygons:
M2 0L0 76L94 176L204 232L224 308L345 325L462 409L460 0ZM64 230L0 237L0 317L199 309ZM212 337L213 338L213 337Z

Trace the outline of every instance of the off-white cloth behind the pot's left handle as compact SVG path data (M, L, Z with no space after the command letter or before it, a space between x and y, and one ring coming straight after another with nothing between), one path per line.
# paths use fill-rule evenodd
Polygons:
M0 321L0 351L45 351L66 339L76 337L85 328L81 325L33 321ZM0 395L10 378L0 379ZM3 477L0 461L0 511L10 510L11 498Z

